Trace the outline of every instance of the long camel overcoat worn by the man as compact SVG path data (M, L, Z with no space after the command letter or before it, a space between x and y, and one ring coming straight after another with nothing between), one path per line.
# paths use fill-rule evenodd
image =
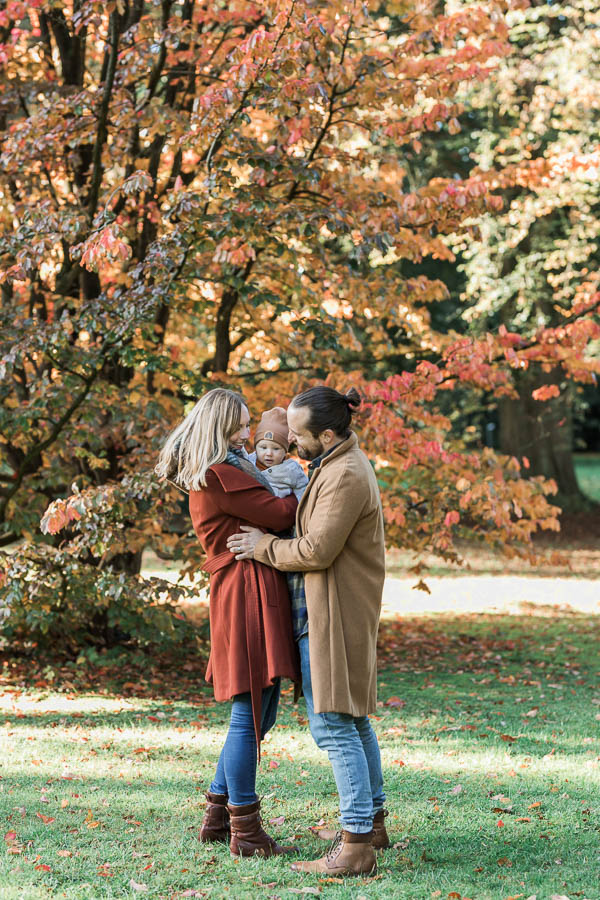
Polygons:
M377 479L354 433L315 470L298 506L296 534L265 535L254 556L305 573L315 712L373 713L384 527Z

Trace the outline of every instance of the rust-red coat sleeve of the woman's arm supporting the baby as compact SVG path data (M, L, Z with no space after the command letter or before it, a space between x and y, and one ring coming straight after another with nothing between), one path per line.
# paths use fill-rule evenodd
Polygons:
M206 485L213 492L219 509L228 516L270 531L285 531L295 522L298 501L293 494L274 497L258 482L256 487L252 485L244 490L226 491L214 472L210 471L206 475Z

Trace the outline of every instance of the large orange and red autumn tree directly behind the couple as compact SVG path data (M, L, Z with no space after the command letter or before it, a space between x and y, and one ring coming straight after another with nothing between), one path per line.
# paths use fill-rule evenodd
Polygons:
M456 558L457 534L527 552L556 527L552 485L514 456L467 453L436 406L459 383L510 396L511 368L552 329L440 335L443 282L398 265L452 259L446 237L473 235L515 177L440 172L413 189L404 161L424 133L460 127L459 88L510 50L505 9L3 4L0 522L5 541L27 539L21 568L4 563L5 600L109 598L113 628L144 546L197 567L151 469L217 382L258 411L311 378L353 380L389 541L417 557ZM582 321L565 326L572 368L597 336ZM377 370L392 351L410 372ZM49 502L57 537L40 543Z

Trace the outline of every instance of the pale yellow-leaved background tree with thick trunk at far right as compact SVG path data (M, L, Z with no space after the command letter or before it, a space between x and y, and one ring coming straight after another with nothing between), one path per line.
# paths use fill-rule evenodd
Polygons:
M457 242L474 333L503 325L528 341L551 328L560 346L562 326L595 303L599 13L595 2L512 10L512 52L493 83L468 92L477 122L473 162L516 174L503 184L502 212L479 220L479 239ZM498 424L501 449L527 456L533 472L555 480L561 505L577 507L573 400L578 383L595 379L598 353L591 348L573 366L569 358L567 344L564 354L553 351L515 370L517 396L499 401Z

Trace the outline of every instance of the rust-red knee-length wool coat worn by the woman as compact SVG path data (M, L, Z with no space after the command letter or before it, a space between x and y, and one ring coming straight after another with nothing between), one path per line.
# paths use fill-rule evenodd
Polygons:
M283 531L294 524L297 501L274 497L229 463L212 466L206 487L190 493L190 514L208 559L211 651L206 680L216 700L250 691L257 741L261 691L278 676L297 681L297 649L285 575L255 560L236 560L227 538L240 525Z

